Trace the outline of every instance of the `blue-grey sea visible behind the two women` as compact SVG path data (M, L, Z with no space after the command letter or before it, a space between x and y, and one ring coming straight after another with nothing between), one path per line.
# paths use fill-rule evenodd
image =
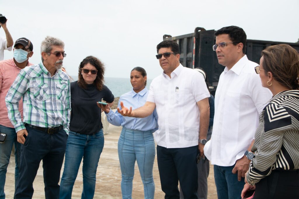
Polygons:
M78 76L72 75L71 78L74 81L78 80ZM104 81L104 85L110 89L114 97L120 97L122 94L132 90L130 78L104 77ZM152 79L147 79L147 89L149 89L151 82Z

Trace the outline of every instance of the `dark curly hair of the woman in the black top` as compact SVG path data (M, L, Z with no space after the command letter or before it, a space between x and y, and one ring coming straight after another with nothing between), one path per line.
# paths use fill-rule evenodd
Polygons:
M105 68L104 64L94 56L87 56L83 61L80 63L79 66L79 73L78 73L78 85L80 88L86 88L86 82L83 79L81 68L83 68L86 64L91 64L97 69L97 77L95 78L93 84L97 88L97 90L101 91L103 89L104 84L104 73Z

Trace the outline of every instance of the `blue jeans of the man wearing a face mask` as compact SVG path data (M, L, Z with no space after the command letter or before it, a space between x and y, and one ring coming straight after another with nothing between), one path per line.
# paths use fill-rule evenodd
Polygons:
M14 128L0 125L0 133L6 134L4 143L0 143L0 199L5 198L4 184L6 179L7 166L10 159L11 149L15 144L15 186L19 177L19 162L21 158L21 144L17 142L17 134Z

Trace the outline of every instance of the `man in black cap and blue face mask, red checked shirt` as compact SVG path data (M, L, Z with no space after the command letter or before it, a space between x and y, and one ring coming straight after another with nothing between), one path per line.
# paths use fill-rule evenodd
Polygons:
M13 144L15 145L16 161L15 184L19 177L19 163L21 156L21 144L17 142L15 128L8 118L5 96L20 70L26 66L33 65L28 61L29 57L33 55L32 50L33 45L29 39L24 37L17 39L13 49L13 58L0 61L0 133L6 134L5 141L0 144L0 199L5 198L4 184ZM22 103L19 104L18 110L23 118Z

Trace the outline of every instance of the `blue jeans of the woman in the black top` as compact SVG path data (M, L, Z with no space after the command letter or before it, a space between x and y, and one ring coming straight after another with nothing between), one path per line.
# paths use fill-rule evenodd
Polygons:
M92 135L69 132L59 198L71 198L82 158L83 191L81 198L94 197L97 165L103 147L104 135L102 129Z

